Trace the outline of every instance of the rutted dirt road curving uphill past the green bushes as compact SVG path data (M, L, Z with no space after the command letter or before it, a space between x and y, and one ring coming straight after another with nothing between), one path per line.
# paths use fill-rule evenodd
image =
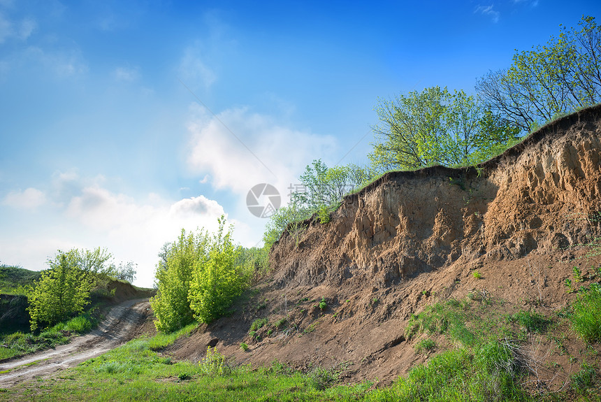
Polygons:
M0 388L73 367L108 352L133 338L150 311L148 299L124 301L113 307L94 331L74 338L68 345L29 354L22 359L0 363Z

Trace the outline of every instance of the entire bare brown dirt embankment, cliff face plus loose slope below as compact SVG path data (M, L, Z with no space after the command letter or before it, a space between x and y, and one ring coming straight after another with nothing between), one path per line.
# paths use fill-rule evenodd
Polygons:
M350 379L385 383L427 358L404 329L435 300L477 291L513 306L565 306L574 295L563 281L587 269L578 245L601 232L600 156L595 106L479 166L388 173L347 196L328 224L284 234L255 296L171 352L198 360L217 345L240 363L346 362ZM257 339L249 326L260 317L273 332Z

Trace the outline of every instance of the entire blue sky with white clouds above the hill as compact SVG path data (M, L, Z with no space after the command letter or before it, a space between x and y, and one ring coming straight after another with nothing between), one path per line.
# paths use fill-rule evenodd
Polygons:
M163 243L285 199L313 159L366 162L378 97L474 92L488 70L599 20L598 1L0 0L0 261L106 247L152 285ZM598 21L601 22L601 21Z

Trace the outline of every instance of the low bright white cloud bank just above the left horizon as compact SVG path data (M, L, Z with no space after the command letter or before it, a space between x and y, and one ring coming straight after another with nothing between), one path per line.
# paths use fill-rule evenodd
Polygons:
M215 231L217 218L225 215L217 201L203 195L180 200L158 194L133 197L113 192L108 185L110 180L103 176L85 178L71 171L55 173L46 195L33 188L8 194L3 205L22 211L0 208L0 213L12 214L10 224L32 229L20 237L0 234L2 261L42 269L58 249L106 247L115 261L138 264L136 283L150 287L164 243L175 241L182 229ZM43 201L43 217L31 217L24 210L42 206Z

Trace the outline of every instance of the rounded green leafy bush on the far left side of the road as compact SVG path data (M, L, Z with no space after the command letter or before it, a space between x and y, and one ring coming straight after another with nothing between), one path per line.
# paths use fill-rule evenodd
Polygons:
M94 286L94 275L80 267L78 253L73 250L59 251L48 265L50 269L43 271L28 297L32 331L80 313Z

